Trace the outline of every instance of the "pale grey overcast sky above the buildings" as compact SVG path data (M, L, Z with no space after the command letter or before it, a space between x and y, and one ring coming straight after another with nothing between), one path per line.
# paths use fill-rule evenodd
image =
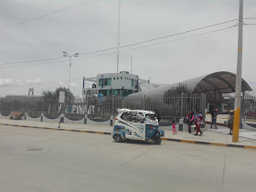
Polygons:
M55 91L59 86L68 87L69 59L61 58L62 51L75 54L116 47L118 0L90 2L0 1L0 96L27 94L29 87L35 88L36 95L44 90ZM67 6L65 11L48 15ZM122 0L121 46L237 19L238 14L239 0ZM19 23L37 16L41 17ZM255 0L244 0L244 17L256 18ZM244 23L256 24L256 19ZM236 24L237 21L229 22L121 48L119 69L130 71L133 57L133 74L164 84L216 71L236 72L238 27L232 27ZM230 28L190 37L225 27ZM256 88L255 34L256 25L244 26L242 77ZM165 43L140 48L160 42ZM132 48L137 49L127 50ZM116 72L115 51L73 59L70 90L80 95L82 77ZM60 59L16 63L50 58Z

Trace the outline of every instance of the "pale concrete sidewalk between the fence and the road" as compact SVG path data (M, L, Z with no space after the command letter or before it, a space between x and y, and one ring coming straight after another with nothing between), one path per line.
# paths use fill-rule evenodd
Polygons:
M29 128L52 128L58 130L59 123L46 123L46 122L32 122L23 120L7 120L0 119L0 124L15 125L15 126L28 126ZM208 125L207 125L208 126ZM209 128L209 127L207 127ZM74 124L74 123L60 123L60 130L64 131L77 131L77 132L89 132L89 133L105 133L110 134L112 132L112 126L107 125L91 125L91 124ZM226 134L227 130L220 128L217 130L207 130L202 136L194 135L194 133L177 132L173 134L172 131L165 130L165 141L176 141L190 144L212 144L212 145L232 145L245 148L255 148L256 140L250 138L240 137L239 143L232 143L232 136ZM241 132L240 132L241 133ZM255 132L256 135L256 132ZM243 146L246 145L246 146ZM251 147L250 147L251 146Z

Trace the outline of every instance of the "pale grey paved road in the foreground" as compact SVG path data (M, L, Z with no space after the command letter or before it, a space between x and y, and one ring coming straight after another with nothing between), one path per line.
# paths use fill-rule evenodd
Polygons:
M255 191L256 150L0 126L0 191Z

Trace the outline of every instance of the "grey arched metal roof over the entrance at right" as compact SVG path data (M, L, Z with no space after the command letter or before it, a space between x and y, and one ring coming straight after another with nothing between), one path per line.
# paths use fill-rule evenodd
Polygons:
M137 97L142 95L163 95L165 91L176 87L179 84L187 85L195 94L206 94L208 102L224 101L224 93L235 92L236 74L219 71L208 75L200 76L190 80L183 80L163 87L155 88L149 91L141 91L129 95L129 97ZM252 91L250 85L242 79L241 91Z

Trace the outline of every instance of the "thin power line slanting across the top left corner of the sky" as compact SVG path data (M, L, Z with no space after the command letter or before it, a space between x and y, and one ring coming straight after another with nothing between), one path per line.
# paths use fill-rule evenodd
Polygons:
M79 3L72 4L72 5L67 5L67 6L64 6L62 8L56 9L54 11L51 11L48 14L43 14L41 16L32 17L32 18L29 18L29 19L26 19L26 20L22 20L22 21L13 23L13 24L2 26L2 27L0 27L0 30L4 30L4 29L9 28L9 27L20 26L20 25L22 25L24 23L27 23L27 22L30 22L30 21L34 21L34 20L36 20L38 18L42 18L42 17L45 17L45 16L50 16L50 15L58 14L59 12L67 11L67 10L69 10L71 8L74 8L76 6L79 6L79 5L82 6L82 5L93 4L93 3L97 2L97 1L101 1L101 0L93 0L93 1L87 1L87 2L82 1L82 2L79 2Z

